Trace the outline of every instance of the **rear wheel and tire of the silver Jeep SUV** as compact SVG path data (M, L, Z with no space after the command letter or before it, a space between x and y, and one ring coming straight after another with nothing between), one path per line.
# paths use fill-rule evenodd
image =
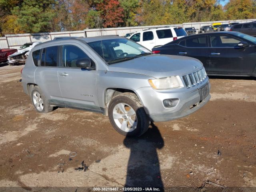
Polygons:
M42 90L38 86L32 86L30 89L30 98L37 112L48 113L53 110Z

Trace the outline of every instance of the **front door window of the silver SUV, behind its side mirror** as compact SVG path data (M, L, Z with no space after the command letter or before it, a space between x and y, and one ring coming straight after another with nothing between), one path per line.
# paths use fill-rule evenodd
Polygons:
M89 58L85 52L74 45L62 47L62 67L76 67L76 61L82 58Z

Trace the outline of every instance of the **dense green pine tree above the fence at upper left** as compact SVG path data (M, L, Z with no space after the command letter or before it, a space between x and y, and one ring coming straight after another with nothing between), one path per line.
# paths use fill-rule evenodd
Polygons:
M12 14L18 17L17 23L25 33L48 32L54 0L24 0L21 6L16 6Z

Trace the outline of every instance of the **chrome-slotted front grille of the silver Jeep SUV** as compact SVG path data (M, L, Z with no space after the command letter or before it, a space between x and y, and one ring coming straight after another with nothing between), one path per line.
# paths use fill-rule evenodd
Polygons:
M202 68L196 72L182 76L182 79L186 85L186 88L190 88L204 82L204 80L206 80L206 77L206 72L204 68Z

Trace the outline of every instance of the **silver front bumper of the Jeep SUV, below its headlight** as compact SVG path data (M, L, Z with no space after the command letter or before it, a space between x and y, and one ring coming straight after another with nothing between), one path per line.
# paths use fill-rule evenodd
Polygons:
M187 116L204 106L211 98L210 94L200 102L199 88L210 83L207 81L193 89L177 89L156 91L151 87L140 88L136 92L150 119L154 122L175 120ZM178 104L171 108L166 108L163 104L165 99L178 98Z

